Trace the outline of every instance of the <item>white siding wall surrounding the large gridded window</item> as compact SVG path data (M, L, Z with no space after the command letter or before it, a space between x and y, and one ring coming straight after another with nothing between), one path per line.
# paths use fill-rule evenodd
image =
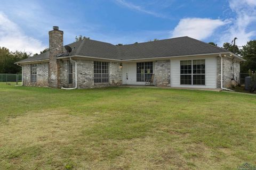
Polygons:
M181 85L180 84L180 61L182 60L205 60L205 85ZM179 57L171 59L171 87L182 88L217 88L217 59L216 57Z

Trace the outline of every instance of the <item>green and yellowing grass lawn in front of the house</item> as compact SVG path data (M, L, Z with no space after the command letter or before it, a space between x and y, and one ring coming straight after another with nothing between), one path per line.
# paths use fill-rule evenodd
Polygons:
M256 96L0 84L0 169L236 169L256 160Z

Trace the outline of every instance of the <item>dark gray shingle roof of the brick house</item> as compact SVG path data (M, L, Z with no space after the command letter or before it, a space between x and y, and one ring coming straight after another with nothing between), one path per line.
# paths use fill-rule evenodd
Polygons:
M75 43L71 43L68 46L73 49L68 56L79 55L115 60L136 60L142 58L144 59L229 52L226 49L213 46L190 37L178 37L123 46L115 46L110 43L84 39ZM46 52L19 62L45 60L48 58L49 52Z

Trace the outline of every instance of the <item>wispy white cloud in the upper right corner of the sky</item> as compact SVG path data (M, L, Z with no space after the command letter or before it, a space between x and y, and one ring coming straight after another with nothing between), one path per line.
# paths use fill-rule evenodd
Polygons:
M250 29L250 24L256 22L256 0L231 0L229 6L236 17L227 31L222 33L218 44L229 43L237 37L237 45L245 45L256 35L255 29Z

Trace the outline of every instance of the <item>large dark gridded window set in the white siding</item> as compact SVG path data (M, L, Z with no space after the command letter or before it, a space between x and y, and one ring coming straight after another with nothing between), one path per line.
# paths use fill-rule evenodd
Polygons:
M205 85L205 60L180 61L180 84Z

